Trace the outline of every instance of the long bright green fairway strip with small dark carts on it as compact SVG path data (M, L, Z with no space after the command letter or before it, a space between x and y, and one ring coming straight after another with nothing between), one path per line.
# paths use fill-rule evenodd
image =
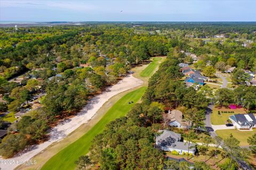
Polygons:
M121 99L119 99L113 107L101 118L101 120L93 126L93 128L85 133L74 143L61 150L58 154L54 155L48 160L42 169L75 169L75 161L81 156L89 152L91 142L95 135L101 133L106 124L115 120L118 117L125 116L130 111L132 106L137 103L144 94L147 87L141 87L137 90L129 92ZM132 104L128 104L133 101Z

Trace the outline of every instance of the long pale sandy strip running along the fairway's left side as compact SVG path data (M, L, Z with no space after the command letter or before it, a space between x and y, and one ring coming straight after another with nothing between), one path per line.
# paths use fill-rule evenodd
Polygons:
M119 81L114 86L107 88L102 94L93 97L89 100L88 104L82 109L77 116L62 121L59 125L55 126L50 132L50 139L40 145L34 145L20 153L19 155L10 159L0 159L1 169L14 169L18 165L25 163L29 164L29 160L35 155L42 152L45 148L50 146L53 142L57 142L65 138L69 133L76 130L79 126L90 121L93 115L106 103L111 97L138 87L143 84L143 81L134 78L131 74L127 75L123 80Z

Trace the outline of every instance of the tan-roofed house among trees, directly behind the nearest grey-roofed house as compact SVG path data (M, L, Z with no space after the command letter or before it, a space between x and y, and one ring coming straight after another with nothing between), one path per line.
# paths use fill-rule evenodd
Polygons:
M179 110L173 110L167 114L167 119L170 120L169 125L177 128L190 128L189 122L183 120L183 113Z

